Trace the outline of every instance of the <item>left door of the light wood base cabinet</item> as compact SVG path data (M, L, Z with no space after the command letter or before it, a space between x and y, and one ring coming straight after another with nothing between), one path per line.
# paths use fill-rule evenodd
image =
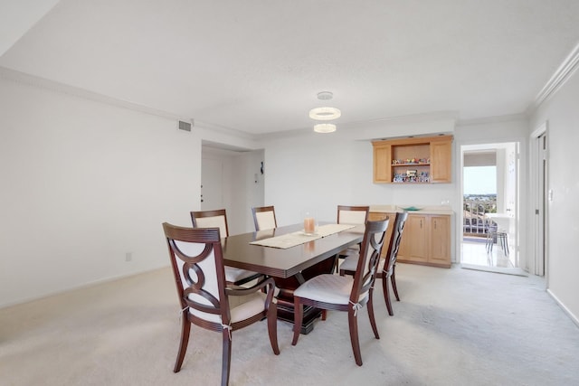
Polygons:
M427 262L428 261L428 232L427 216L420 214L409 214L402 240L400 240L400 249L398 249L398 259Z

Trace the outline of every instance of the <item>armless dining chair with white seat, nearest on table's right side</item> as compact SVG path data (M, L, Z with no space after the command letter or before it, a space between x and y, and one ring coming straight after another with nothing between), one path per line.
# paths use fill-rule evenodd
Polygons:
M304 305L322 310L347 312L352 351L358 366L362 365L362 354L358 338L357 314L367 306L370 325L376 339L380 339L375 323L372 291L374 291L375 273L380 252L384 245L384 236L388 220L368 221L364 240L360 249L360 259L354 277L322 274L308 279L294 290L294 328L292 345L298 344Z

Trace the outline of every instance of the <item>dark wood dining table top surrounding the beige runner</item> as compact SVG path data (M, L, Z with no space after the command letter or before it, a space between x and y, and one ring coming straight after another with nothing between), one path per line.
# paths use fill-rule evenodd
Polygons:
M223 261L230 267L250 269L276 278L289 278L351 245L362 242L365 231L364 225L357 225L355 228L288 249L250 244L254 240L300 231L302 228L302 224L295 224L224 238L222 240Z

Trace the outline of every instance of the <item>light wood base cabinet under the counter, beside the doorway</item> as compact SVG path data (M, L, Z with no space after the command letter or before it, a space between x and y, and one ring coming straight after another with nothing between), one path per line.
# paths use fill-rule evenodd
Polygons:
M404 224L398 261L451 267L451 216L411 213Z

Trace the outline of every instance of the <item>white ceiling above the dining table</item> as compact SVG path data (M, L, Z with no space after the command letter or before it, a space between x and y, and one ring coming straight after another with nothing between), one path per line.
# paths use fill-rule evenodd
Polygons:
M252 135L526 113L576 0L3 0L0 66ZM331 91L329 101L317 99Z

